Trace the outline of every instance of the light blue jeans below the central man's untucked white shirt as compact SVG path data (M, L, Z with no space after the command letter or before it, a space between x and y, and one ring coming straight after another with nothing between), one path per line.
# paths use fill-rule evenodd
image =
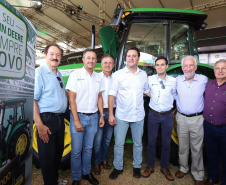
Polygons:
M114 135L115 135L115 146L114 146L114 162L113 165L115 169L123 169L123 153L124 153L124 144L127 130L130 126L132 131L133 139L133 167L141 168L142 163L142 136L143 136L143 126L144 119L137 122L127 122L116 119L116 125L114 126Z

